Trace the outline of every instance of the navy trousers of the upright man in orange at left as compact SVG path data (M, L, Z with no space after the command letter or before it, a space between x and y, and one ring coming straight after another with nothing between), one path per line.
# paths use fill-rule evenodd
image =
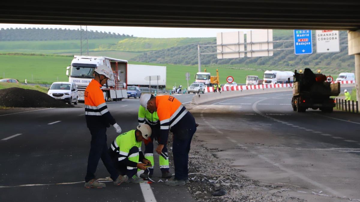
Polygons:
M90 153L87 159L85 182L95 179L96 168L99 160L103 161L113 180L119 176L108 152L106 128L89 128L91 133Z

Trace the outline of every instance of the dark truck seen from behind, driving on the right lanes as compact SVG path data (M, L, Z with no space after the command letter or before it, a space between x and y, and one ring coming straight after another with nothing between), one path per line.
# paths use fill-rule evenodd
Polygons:
M293 85L293 97L291 105L294 111L305 112L311 108L320 109L331 113L336 105L330 96L340 94L340 83L327 82L327 77L318 71L314 74L311 69L306 68L304 72L295 70Z

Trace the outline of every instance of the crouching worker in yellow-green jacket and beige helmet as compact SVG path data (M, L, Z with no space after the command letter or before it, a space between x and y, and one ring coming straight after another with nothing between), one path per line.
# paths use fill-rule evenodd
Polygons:
M145 166L151 164L141 152L142 141L149 139L150 136L151 128L149 125L140 124L135 130L120 134L111 143L109 148L111 159L121 175L127 178L125 182L140 183L144 181L138 178L136 173L138 169L146 170L147 167Z

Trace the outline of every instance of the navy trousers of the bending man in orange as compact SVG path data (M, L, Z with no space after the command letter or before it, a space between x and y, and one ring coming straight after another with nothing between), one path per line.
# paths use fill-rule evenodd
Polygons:
M196 123L193 115L188 112L171 128L174 133L172 142L172 155L174 156L175 179L186 180L189 178L188 161L190 144L196 132Z

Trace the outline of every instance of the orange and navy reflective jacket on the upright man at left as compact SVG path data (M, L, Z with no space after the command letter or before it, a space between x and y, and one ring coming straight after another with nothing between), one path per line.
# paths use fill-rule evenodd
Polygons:
M84 92L85 118L88 128L103 128L114 125L115 119L111 116L105 103L103 91L98 81L93 79Z

